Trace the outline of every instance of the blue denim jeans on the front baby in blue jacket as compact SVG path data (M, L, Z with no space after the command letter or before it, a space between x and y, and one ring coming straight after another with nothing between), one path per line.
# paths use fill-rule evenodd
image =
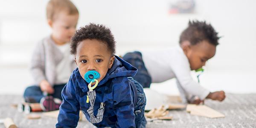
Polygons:
M136 128L145 128L146 127L146 119L144 116L145 105L146 105L146 96L143 91L143 87L141 84L134 82L137 88L137 104L134 107L134 114L135 114L135 125Z

